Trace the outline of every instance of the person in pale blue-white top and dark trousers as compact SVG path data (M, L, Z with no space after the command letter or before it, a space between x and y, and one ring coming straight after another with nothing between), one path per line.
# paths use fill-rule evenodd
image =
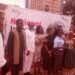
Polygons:
M64 38L62 36L62 30L59 30L54 38L53 48L53 73L54 75L58 75L59 71L62 69L64 54Z

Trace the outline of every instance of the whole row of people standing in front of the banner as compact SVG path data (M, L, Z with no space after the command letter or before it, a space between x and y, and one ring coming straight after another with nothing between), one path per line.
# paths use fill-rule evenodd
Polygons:
M29 23L28 28L23 28L23 20L16 20L16 28L9 32L6 47L3 47L3 39L0 32L0 68L2 75L11 71L11 75L32 75L34 70L41 75L60 75L64 69L75 68L75 37L74 29L67 34L61 25L48 27L46 33L41 25L34 29ZM8 60L5 55L8 55ZM37 73L36 72L36 73Z

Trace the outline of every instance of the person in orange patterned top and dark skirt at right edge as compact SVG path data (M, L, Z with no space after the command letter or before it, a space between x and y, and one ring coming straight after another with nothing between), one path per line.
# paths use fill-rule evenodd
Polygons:
M69 31L65 39L64 68L68 70L72 70L73 68L75 68L75 48L73 31Z

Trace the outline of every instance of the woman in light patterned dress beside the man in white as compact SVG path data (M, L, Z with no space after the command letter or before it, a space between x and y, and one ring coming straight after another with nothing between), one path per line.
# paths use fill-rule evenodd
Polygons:
M36 38L35 38L35 53L34 53L34 72L38 74L41 68L41 48L43 45L43 39L45 37L42 26L36 27Z

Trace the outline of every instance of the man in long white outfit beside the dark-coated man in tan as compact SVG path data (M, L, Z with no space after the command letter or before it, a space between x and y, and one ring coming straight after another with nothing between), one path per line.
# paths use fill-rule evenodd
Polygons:
M26 50L24 54L23 73L24 75L31 75L30 70L33 64L33 55L35 52L35 32L34 26L29 25L29 29L25 30L26 36Z

